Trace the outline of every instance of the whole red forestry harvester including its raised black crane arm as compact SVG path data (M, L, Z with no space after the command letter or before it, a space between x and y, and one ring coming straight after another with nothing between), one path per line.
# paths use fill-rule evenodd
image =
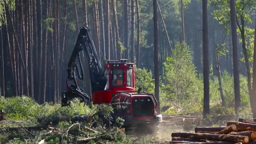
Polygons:
M80 60L80 51L85 51L85 58L89 64L92 96L84 93L77 85L77 78L83 80L83 67ZM75 61L78 60L77 64ZM81 74L78 70L80 67ZM114 115L125 120L125 131L141 133L155 133L158 124L162 122L162 115L157 114L157 100L152 93L135 91L134 65L127 59L106 60L104 69L101 67L96 48L93 44L90 29L80 29L77 41L68 62L67 91L62 94L61 106L69 106L70 101L79 98L91 104L110 104L119 101L125 108ZM75 69L78 77L75 76ZM69 85L69 83L72 83ZM136 134L134 133L134 134ZM133 134L133 133L132 133Z

